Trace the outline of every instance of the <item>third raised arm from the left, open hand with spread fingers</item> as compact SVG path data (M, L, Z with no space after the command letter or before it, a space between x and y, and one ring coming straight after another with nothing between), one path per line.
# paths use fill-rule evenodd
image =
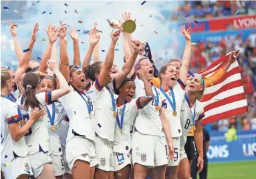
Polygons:
M57 35L58 35L57 29L55 29L55 26L52 27L50 23L48 25L48 29L47 30L45 29L45 31L48 35L49 43L39 63L39 71L43 73L46 73L46 70L47 70L46 61L51 58L51 50L53 48L53 43L55 43L55 41L57 40Z

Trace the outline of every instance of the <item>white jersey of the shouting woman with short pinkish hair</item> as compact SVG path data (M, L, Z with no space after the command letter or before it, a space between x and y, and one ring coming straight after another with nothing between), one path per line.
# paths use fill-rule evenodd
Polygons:
M134 98L146 96L143 81L138 79L137 76L132 77L132 79L134 79L136 85L136 93ZM155 100L153 99L152 102L150 102L147 106L144 106L142 110L139 110L135 120L135 128L142 134L164 136L164 132L162 131L162 122L159 116L160 112L156 111L155 109L156 106L162 107L162 94L160 89L154 85L152 85L152 92L154 96L158 96L158 103L156 104Z

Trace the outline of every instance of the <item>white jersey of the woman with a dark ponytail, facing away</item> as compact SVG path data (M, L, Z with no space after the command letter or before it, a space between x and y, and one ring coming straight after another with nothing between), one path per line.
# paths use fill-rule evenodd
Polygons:
M48 102L51 102L51 92L39 93L36 94L35 97L42 106ZM19 110L21 110L24 122L27 122L33 109L29 106L29 109L25 110L24 96L20 96L16 103ZM29 128L27 134L25 134L25 140L27 142L27 146L29 147L29 154L35 154L37 152L44 152L47 154L49 152L49 133L47 125L47 115L45 115L42 118L38 118L33 123L31 128Z

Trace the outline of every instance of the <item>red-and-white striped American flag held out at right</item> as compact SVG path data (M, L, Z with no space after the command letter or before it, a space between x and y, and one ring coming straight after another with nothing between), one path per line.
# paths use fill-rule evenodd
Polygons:
M199 74L207 77L217 71L227 61L229 55L214 61ZM245 98L241 70L237 60L231 64L227 73L218 82L205 88L203 102L205 118L203 124L209 124L217 120L229 118L247 112L248 104Z

